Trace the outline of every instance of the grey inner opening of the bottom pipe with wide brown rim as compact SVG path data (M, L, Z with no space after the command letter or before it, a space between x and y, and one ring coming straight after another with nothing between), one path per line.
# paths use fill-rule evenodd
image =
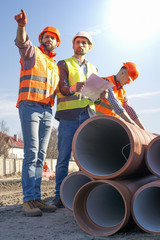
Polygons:
M107 184L99 185L89 193L86 209L90 219L105 228L121 224L125 216L122 196L114 187Z

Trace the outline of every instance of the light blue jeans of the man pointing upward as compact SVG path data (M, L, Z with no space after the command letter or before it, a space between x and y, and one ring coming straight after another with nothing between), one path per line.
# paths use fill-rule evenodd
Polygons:
M32 101L19 104L24 140L22 166L23 201L41 198L43 161L53 125L52 109Z

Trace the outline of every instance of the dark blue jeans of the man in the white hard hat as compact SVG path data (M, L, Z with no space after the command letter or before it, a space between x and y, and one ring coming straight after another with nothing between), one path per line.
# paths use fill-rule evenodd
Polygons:
M89 118L87 112L80 114L77 120L60 119L58 127L58 151L56 164L56 187L55 195L60 196L60 185L68 175L68 165L72 152L72 140L78 127Z

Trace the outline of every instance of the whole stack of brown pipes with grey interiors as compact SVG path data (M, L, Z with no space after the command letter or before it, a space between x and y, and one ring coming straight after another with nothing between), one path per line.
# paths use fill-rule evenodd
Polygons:
M80 171L68 175L60 196L78 225L109 236L131 219L160 233L160 136L112 116L86 120L72 151Z

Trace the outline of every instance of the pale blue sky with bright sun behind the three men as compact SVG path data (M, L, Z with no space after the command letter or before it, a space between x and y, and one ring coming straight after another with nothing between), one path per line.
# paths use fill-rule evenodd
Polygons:
M72 38L87 31L93 49L86 59L98 68L99 76L117 74L123 62L134 62L139 77L125 86L127 96L147 131L160 134L160 1L159 0L5 0L1 3L0 121L8 134L21 135L16 108L20 56L14 44L14 16L23 8L26 31L34 45L46 26L59 29L61 44L56 62L73 55ZM53 107L55 115L56 104ZM58 122L54 119L54 127Z

